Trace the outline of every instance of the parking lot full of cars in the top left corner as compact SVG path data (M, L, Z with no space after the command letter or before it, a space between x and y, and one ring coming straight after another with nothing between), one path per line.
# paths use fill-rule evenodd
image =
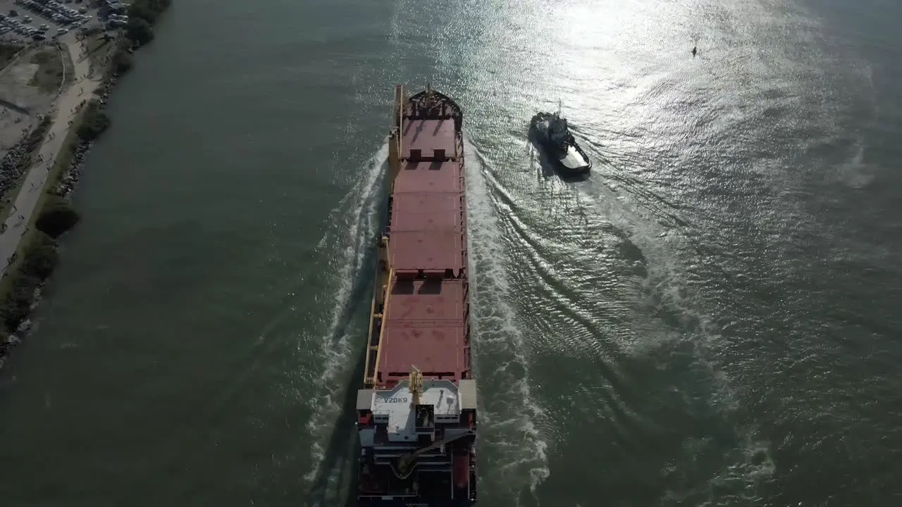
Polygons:
M103 26L89 0L0 0L0 40L52 41L80 27Z

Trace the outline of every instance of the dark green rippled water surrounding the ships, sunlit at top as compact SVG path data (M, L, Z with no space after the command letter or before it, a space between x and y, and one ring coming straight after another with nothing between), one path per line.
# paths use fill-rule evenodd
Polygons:
M429 80L466 112L483 505L896 505L899 14L177 3L0 373L3 504L342 502L392 86ZM590 180L530 155L558 99Z

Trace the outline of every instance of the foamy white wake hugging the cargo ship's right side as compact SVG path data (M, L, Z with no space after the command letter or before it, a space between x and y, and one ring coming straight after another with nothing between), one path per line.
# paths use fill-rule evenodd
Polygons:
M544 410L530 392L529 362L503 263L502 231L494 215L491 175L472 143L465 143L470 263L474 277L474 349L483 416L484 484L538 504L535 490L548 478Z

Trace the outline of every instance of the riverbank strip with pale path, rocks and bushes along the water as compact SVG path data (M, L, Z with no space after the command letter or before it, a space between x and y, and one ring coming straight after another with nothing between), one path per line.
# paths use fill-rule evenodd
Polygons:
M29 315L57 263L60 236L78 223L69 195L91 143L109 126L106 98L131 69L133 51L152 41L152 25L169 6L170 0L135 0L129 22L115 36L82 32L65 45L73 84L60 90L51 119L40 124L43 131L27 136L43 144L29 159L37 163L23 171L10 216L0 226L0 255L7 259L0 279L0 367L32 327Z

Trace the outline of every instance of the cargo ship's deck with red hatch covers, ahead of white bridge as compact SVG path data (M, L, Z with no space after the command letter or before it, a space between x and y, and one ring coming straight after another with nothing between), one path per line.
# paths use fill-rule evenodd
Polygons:
M440 95L440 94L437 94ZM469 378L464 145L457 106L424 111L411 98L401 117L391 180L384 309L368 360L373 386L391 388L413 368L424 378ZM441 96L444 97L444 96ZM375 333L374 333L375 334Z

